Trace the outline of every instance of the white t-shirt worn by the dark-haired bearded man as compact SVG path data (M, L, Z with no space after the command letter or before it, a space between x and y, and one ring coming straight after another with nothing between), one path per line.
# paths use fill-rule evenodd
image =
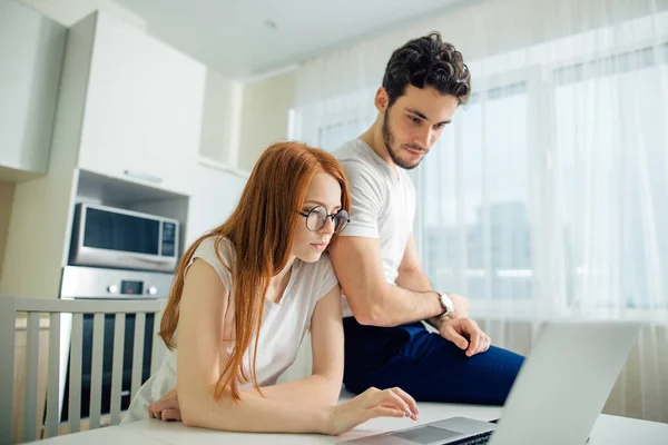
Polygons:
M351 222L340 236L376 238L381 243L385 280L395 284L399 265L413 231L415 187L404 169L393 170L360 139L334 151L351 189ZM343 316L353 313L343 299Z

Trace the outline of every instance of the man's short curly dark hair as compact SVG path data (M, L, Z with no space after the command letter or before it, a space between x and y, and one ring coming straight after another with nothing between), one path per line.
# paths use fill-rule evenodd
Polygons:
M462 53L436 31L411 40L392 53L383 77L389 107L405 93L409 83L418 88L431 86L442 95L456 97L460 105L466 103L471 93L471 73Z

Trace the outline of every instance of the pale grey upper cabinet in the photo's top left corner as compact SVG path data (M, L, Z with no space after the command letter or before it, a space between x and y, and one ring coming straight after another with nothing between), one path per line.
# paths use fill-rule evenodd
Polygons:
M0 2L0 181L47 172L67 28Z

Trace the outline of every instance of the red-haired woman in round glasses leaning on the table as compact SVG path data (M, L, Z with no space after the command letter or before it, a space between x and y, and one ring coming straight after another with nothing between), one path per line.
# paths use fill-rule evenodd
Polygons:
M324 251L348 209L332 155L297 142L269 147L229 219L184 255L160 325L169 350L124 422L149 417L148 405L168 393L173 409L154 405L151 417L213 429L341 434L379 416L416 419L415 402L399 388L335 405L341 289ZM276 384L307 329L313 374Z

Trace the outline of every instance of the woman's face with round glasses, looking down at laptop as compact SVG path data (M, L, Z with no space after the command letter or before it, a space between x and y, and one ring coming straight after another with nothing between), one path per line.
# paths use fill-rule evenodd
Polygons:
M327 215L336 214L341 209L341 186L333 176L320 172L311 180L306 198L299 212L307 215L315 207L324 207ZM295 240L292 255L303 261L314 263L320 259L334 235L334 221L326 218L320 230L312 231L306 227L306 217L299 217L295 227ZM317 220L315 215L310 217L310 224Z

